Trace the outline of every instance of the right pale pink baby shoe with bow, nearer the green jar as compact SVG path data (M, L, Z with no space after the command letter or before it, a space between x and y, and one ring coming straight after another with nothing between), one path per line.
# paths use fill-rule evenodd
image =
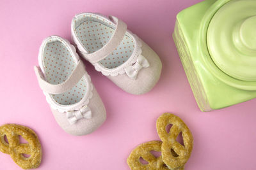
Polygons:
M131 94L150 91L159 80L162 63L127 25L116 17L81 13L71 24L79 53L118 87Z

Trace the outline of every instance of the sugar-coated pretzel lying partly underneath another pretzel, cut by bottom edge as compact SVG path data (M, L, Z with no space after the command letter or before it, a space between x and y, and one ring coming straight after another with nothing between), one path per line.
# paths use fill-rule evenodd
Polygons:
M161 152L161 141L149 141L147 143L142 143L137 146L130 153L127 164L132 170L154 170L154 169L168 169L164 164L162 157L155 157L150 153L150 151ZM148 162L148 164L142 164L140 158L143 158Z

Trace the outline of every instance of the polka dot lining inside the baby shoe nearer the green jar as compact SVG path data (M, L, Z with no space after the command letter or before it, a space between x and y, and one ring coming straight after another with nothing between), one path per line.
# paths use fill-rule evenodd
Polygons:
M95 20L87 20L78 26L76 25L76 34L89 53L93 53L106 45L114 32L114 29L109 25ZM99 63L108 69L113 69L128 60L133 50L133 39L125 35L113 53L100 60Z

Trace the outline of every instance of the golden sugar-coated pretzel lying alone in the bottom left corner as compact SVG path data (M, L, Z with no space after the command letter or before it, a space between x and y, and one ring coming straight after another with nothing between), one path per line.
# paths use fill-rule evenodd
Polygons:
M20 143L19 135L28 143ZM8 139L8 143L4 140ZM23 169L40 166L42 158L41 144L35 132L23 125L5 124L0 127L0 151L11 155L13 161ZM30 157L24 157L28 154Z

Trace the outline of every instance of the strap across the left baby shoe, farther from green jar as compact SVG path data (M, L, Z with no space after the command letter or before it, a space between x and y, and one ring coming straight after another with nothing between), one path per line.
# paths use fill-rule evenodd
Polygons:
M42 73L40 67L35 66L34 69L40 88L49 94L61 94L63 92L67 92L67 90L72 89L72 87L74 87L86 73L83 62L79 60L76 69L72 71L66 81L57 85L53 85L45 80L44 74Z

